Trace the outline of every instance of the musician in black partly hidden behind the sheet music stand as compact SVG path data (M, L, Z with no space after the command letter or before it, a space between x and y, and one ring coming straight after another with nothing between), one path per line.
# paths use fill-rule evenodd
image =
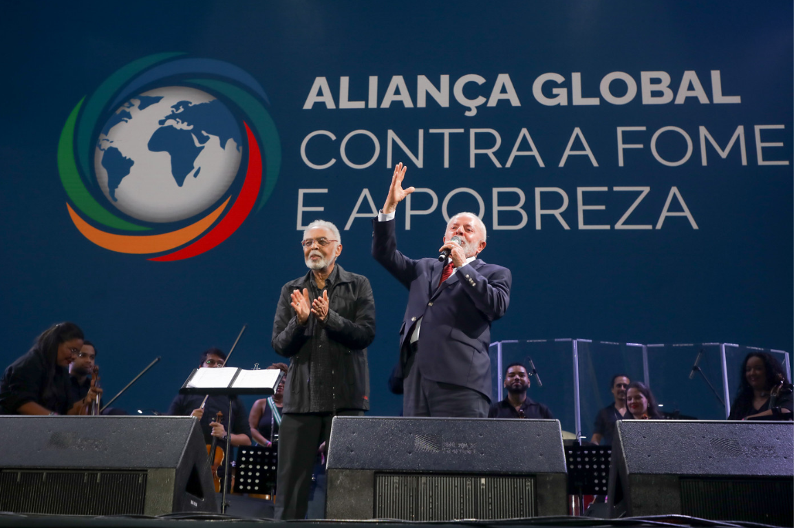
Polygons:
M222 367L226 360L226 354L220 349L209 349L201 355L200 368ZM231 445L251 445L251 428L248 422L248 412L245 405L237 396L231 396L232 400L232 427ZM204 401L203 395L177 395L168 413L172 416L193 416L201 422L204 441L207 445L212 443L212 438L217 438L217 445L224 448L226 445L226 432L229 427L229 396L211 395L206 399L204 408L201 403ZM217 417L218 411L223 416L221 421L213 422Z

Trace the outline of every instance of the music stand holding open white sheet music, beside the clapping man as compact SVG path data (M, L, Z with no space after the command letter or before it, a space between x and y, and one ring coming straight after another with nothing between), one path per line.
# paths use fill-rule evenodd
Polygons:
M229 430L226 431L226 457L224 457L223 495L221 513L226 513L226 482L229 476L229 446L232 439L232 399L238 395L276 394L284 373L277 368L243 370L242 368L194 368L187 381L179 389L179 394L187 395L226 395L229 396Z

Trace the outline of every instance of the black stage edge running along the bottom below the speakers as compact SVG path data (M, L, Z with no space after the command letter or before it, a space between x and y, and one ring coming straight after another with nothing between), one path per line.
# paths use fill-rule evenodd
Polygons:
M599 519L588 517L534 517L516 518L500 521L461 520L455 522L410 522L393 520L371 521L274 521L269 518L241 518L231 515L161 515L155 518L106 516L83 517L78 515L18 515L0 512L0 528L211 528L219 525L235 526L235 528L253 528L267 524L272 528L316 528L320 525L333 525L344 528L405 528L406 525L416 528L459 528L460 526L482 526L483 528L507 526L547 526L549 528L595 528L612 527L640 528L646 526L674 526L677 528L762 528L770 525L754 522L720 522L685 515L657 515L645 518Z

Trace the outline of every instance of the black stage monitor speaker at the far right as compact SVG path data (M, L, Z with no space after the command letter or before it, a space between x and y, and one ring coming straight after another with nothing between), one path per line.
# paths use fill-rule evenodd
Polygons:
M792 435L792 422L617 422L611 516L678 514L792 526Z

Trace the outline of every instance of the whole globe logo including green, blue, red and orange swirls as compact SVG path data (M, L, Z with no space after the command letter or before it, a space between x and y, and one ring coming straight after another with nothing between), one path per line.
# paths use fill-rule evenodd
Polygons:
M126 64L61 131L71 222L94 245L158 262L216 248L276 186L268 105L256 79L221 60L160 53Z

